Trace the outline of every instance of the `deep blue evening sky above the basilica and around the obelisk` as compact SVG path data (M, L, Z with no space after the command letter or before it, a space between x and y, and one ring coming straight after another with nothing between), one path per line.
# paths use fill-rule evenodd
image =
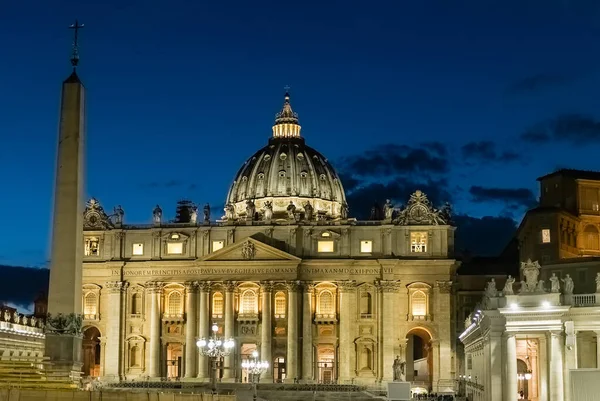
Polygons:
M75 18L87 192L130 223L157 203L173 217L183 197L220 210L271 135L284 85L307 143L346 177L354 215L419 186L457 213L518 221L536 177L598 168L600 2L310 4L4 2L0 264L48 258Z

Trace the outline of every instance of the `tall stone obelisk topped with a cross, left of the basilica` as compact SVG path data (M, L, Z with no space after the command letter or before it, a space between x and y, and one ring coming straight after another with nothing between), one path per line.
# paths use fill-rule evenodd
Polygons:
M45 350L52 370L71 377L82 367L85 90L77 75L82 26L75 21L70 27L75 31L73 72L62 84Z

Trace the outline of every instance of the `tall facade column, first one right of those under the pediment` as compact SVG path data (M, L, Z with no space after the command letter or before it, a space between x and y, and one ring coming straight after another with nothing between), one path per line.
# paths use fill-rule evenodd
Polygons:
M346 384L352 378L352 327L354 312L356 311L356 283L354 281L343 281L338 283L340 292L340 331L339 331L339 360L337 363L339 371L338 383Z

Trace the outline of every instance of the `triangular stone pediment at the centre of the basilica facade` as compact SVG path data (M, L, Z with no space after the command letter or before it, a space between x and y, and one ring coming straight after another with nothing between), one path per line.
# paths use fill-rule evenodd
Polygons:
M270 245L255 240L244 238L243 240L219 249L206 255L201 259L203 262L212 261L252 261L252 260L280 260L300 262L300 258L274 248Z

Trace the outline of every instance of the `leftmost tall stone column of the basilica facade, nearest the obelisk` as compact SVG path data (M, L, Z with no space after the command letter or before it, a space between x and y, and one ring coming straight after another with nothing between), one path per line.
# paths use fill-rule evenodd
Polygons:
M124 281L110 281L105 288L108 291L108 304L110 305L106 324L106 354L105 376L108 380L118 381L121 378L121 322L123 320L123 291L129 283Z

